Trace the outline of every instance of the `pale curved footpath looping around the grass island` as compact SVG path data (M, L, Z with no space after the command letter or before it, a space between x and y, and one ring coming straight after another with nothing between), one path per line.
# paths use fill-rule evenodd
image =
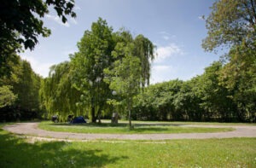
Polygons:
M71 140L169 140L169 139L207 139L207 138L231 138L231 137L256 137L256 126L246 125L183 125L188 127L231 127L236 130L228 132L215 133L182 133L182 134L84 134L70 132L55 132L38 129L38 123L18 123L15 125L6 125L4 130L9 132L26 135L40 136L56 139Z

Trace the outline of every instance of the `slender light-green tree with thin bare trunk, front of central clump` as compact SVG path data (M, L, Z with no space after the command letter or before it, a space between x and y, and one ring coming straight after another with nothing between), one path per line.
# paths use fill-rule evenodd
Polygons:
M141 62L140 59L133 55L134 44L128 43L127 45L117 45L116 52L113 52L115 58L119 55L123 57L114 61L112 69L105 69L105 73L109 78L105 81L108 82L109 88L115 90L117 95L124 97L128 110L128 119L130 129L131 126L131 108L133 105L133 97L137 95L140 90L141 82Z

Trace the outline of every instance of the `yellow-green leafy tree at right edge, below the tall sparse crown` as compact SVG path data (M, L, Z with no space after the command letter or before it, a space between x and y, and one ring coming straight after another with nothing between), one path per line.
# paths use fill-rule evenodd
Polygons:
M220 82L232 94L241 120L255 121L256 117L256 43L253 49L242 43L229 53L230 61L220 73Z

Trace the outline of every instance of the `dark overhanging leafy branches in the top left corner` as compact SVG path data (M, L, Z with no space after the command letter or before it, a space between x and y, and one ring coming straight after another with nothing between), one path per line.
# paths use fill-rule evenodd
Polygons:
M0 67L5 66L8 57L20 52L21 47L33 49L38 43L38 36L48 37L50 30L44 27L41 18L49 13L53 6L61 21L67 21L67 15L75 17L74 0L14 0L0 4ZM8 67L6 67L7 70ZM1 75L3 74L0 71Z

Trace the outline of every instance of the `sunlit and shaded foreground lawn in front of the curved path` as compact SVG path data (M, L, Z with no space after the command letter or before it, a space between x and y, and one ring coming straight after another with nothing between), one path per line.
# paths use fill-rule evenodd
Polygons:
M256 138L35 142L0 130L9 167L256 167Z

